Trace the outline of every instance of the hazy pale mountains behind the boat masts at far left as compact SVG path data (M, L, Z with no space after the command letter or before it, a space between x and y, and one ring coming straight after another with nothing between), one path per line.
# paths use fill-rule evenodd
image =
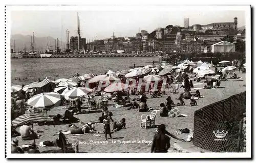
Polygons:
M11 46L13 48L13 40L15 40L15 50L16 51L24 51L24 47L26 44L26 51L31 50L31 35L12 35L11 36ZM50 49L55 49L55 38L48 36L48 37L35 37L34 36L34 50L36 51L45 51L47 49L47 43L48 43L48 48ZM62 47L61 47L62 45ZM66 42L62 41L59 39L59 48L63 49L66 48Z

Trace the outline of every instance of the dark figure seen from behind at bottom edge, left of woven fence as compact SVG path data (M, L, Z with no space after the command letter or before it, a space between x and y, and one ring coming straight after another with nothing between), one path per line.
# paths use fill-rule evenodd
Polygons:
M165 135L165 125L159 126L159 132L154 135L151 153L167 153L170 148L170 138Z

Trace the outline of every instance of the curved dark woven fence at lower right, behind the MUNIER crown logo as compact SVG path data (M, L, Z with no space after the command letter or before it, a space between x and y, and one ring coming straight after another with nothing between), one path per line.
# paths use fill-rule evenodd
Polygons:
M195 112L194 117L194 145L200 148L214 151L225 152L226 148L232 145L227 133L223 140L216 138L214 131L224 132L227 124L224 121L232 115L232 111L246 104L246 93L233 95L225 100L207 105Z

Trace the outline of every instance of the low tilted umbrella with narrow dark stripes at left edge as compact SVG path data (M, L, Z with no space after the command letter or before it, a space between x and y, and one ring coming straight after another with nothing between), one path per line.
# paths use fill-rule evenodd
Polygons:
M24 114L12 121L12 125L22 126L27 123L42 123L42 122L53 122L53 119L45 116L44 114L32 113L32 114Z

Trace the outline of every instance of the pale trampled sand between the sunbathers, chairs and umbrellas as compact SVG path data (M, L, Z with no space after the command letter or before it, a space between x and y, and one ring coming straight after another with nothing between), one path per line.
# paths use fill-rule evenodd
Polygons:
M200 89L205 86L205 83L196 83L194 82L194 87L200 89L200 93L203 98L197 100L197 106L187 106L189 104L189 100L184 100L185 106L177 106L180 109L180 114L187 115L186 117L179 117L179 118L169 118L169 117L160 117L159 113L156 117L156 125L165 124L166 129L169 132L174 132L178 129L188 128L193 130L194 128L194 112L199 108L217 102L219 100L223 100L228 98L231 95L238 94L244 92L246 87L245 85L245 74L237 72L238 77L242 77L241 81L237 81L238 79L228 79L226 82L221 82L220 87L218 89ZM180 88L179 92L183 93L184 89ZM192 89L191 93L195 93L196 89ZM147 95L147 105L152 108L158 108L160 103L164 103L167 96L171 96L174 103L179 102L177 100L179 93L174 94L170 93L168 89L166 89L166 94L163 97L157 97L151 99L150 95ZM132 96L133 98L133 96ZM108 106L109 110L113 113L113 119L115 121L120 121L121 118L126 119L126 129L121 129L120 131L114 132L112 134L112 140L108 139L108 143L105 142L104 134L83 134L83 135L74 135L78 138L80 142L86 142L86 144L79 144L79 152L81 153L121 153L121 152L129 152L129 153L148 153L151 152L151 141L153 140L153 136L156 132L156 128L150 129L143 129L140 127L140 117L142 114L150 114L147 113L139 113L137 109L126 110L125 107L116 108L113 107L113 101L110 101L110 105ZM48 115L63 115L66 109L65 106L59 106L53 108L51 111L48 112ZM79 114L75 115L75 117L79 118L80 121L83 122L90 122L97 120L98 117L101 116L101 113L87 113L87 114ZM75 123L77 127L81 127L82 124L80 122ZM39 139L36 139L36 144L39 146L39 142L42 141L53 141L58 138L57 135L53 135L55 132L59 130L68 130L68 124L65 125L34 125L34 131L42 130L44 132L38 133L41 134ZM102 124L95 124L95 129L98 131L103 131ZM19 131L19 128L16 129ZM98 137L100 135L100 137ZM176 134L178 138L185 138L187 134ZM67 135L66 137L71 137L73 135ZM32 140L33 141L33 140ZM24 145L26 143L32 141L23 141L19 138L19 145ZM105 143L96 141L104 141ZM173 144L178 142L178 140L171 139L170 144L171 147L168 152L173 152ZM58 147L39 147L39 151L48 151L53 149L59 149Z

